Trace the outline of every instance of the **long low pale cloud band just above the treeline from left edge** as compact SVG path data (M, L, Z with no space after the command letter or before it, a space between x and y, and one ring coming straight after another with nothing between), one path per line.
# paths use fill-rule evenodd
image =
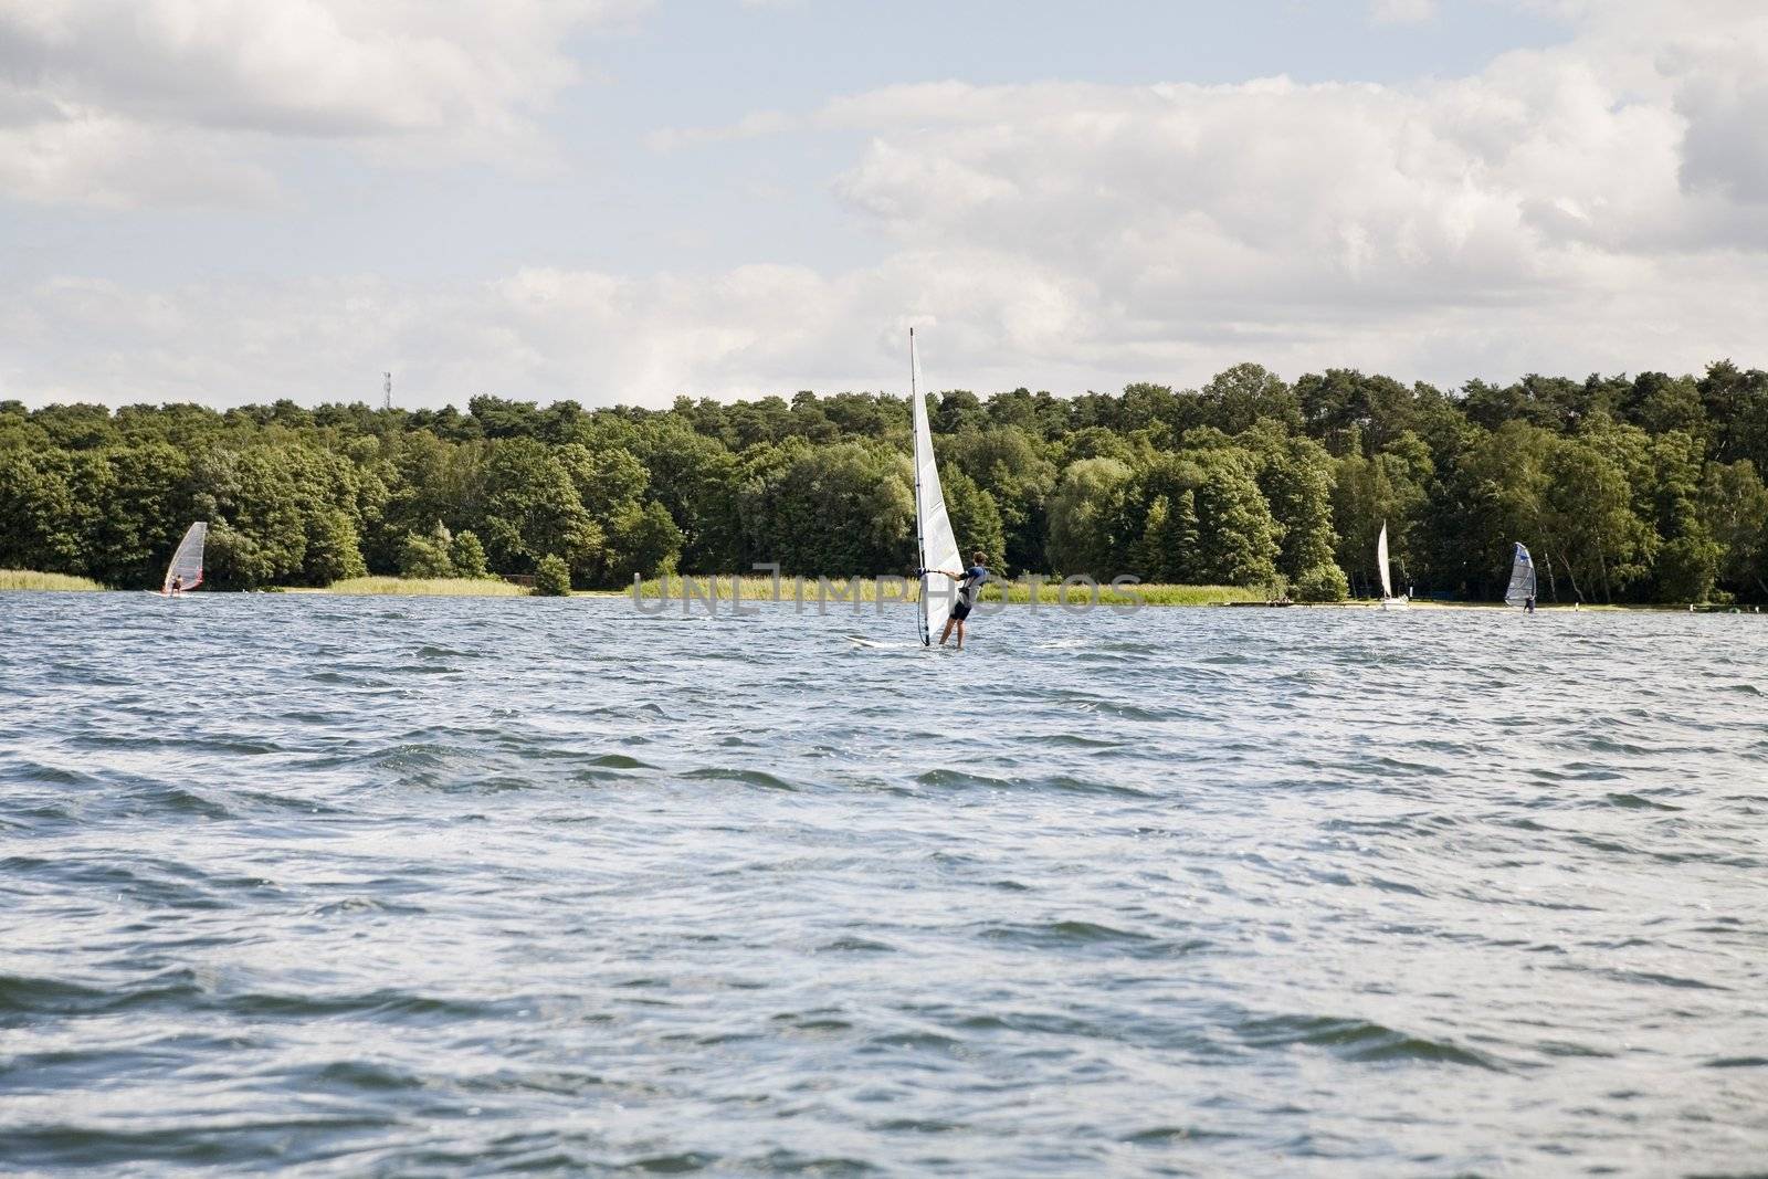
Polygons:
M1001 378L1052 332L1086 331L1096 299L1086 281L1010 256L914 251L833 278L785 265L644 279L536 267L488 283L350 276L166 292L57 279L0 292L0 398L373 399L391 368L407 403L499 392L667 405L877 387L903 369L911 323L935 329L946 357L999 357L978 375ZM930 371L955 378L949 366Z

